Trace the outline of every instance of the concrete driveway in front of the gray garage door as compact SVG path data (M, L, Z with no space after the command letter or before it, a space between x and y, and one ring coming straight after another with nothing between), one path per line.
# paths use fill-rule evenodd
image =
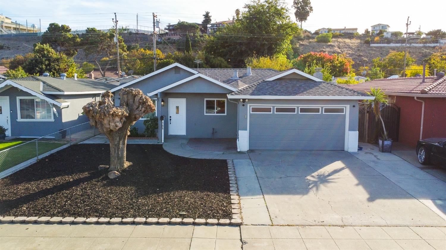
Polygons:
M274 225L446 225L446 183L372 145L249 156Z

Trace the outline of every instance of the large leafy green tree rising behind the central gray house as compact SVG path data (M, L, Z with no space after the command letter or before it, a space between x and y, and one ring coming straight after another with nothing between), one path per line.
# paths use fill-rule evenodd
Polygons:
M273 57L292 51L290 41L300 29L289 17L283 1L252 0L244 8L234 24L207 37L206 53L223 57L232 66L243 67L248 57Z

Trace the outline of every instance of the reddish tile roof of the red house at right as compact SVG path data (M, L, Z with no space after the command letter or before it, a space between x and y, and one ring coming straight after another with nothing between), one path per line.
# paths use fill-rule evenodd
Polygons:
M402 94L446 94L446 76L437 79L426 77L406 77L392 79L376 79L355 85L347 85L347 88L359 91L370 91L370 88L380 88L384 92Z

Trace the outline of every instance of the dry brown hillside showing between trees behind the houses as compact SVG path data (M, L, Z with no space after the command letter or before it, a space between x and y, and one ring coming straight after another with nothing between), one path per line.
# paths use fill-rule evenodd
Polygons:
M145 45L152 46L152 39L147 35L140 34L140 36L127 35L123 36L126 44L138 43L141 48ZM4 49L0 49L0 59L11 58L17 54L26 54L33 51L33 44L40 41L40 37L4 37L0 44L4 45ZM174 45L172 45L174 46ZM301 54L308 52L325 52L329 54L333 53L345 53L347 57L351 57L355 61L353 67L360 67L365 64L366 66L372 63L372 59L376 57L385 57L391 51L403 51L404 47L370 47L363 44L363 41L359 39L343 39L335 38L331 43L316 43L313 40L297 41L297 46L300 49ZM173 52L173 49L168 45L159 45L157 47L161 49L163 53ZM181 49L179 49L181 50ZM433 47L408 47L409 55L416 59L416 63L420 64L421 61L429 57L431 54L429 51L438 52L438 48ZM74 57L77 61L91 61L93 58L89 58L88 55L83 53L80 49L78 54Z

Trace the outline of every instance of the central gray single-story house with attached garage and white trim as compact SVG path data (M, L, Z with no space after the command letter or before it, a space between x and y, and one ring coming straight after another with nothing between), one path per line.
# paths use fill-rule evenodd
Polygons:
M158 138L234 138L239 151L358 148L358 101L372 99L296 69L191 69L178 63L111 89L156 103ZM164 118L162 126L161 118ZM144 130L143 119L135 126Z

